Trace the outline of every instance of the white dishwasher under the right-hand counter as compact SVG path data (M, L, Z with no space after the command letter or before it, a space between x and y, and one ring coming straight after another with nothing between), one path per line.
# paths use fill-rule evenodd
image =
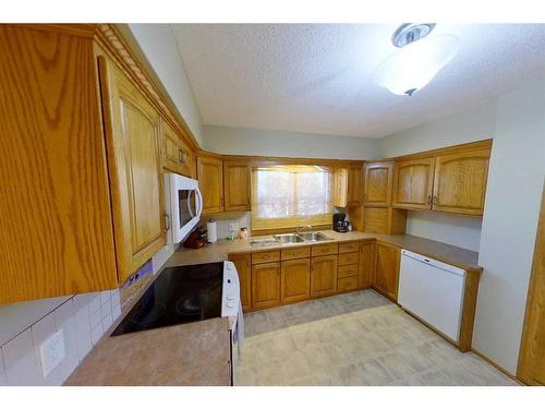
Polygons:
M407 311L458 341L465 270L401 250L398 302Z

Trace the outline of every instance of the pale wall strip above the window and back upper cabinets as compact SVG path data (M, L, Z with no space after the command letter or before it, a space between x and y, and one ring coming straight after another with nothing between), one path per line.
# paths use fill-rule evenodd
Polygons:
M378 140L204 125L204 147L226 155L374 159Z

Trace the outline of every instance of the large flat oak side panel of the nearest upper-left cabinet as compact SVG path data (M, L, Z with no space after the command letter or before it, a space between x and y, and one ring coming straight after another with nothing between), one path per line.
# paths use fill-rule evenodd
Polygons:
M0 303L117 287L90 37L0 25Z

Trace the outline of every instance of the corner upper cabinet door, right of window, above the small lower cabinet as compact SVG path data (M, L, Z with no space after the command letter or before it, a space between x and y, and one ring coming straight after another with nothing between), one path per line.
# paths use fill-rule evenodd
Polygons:
M392 164L365 165L363 201L366 206L388 206L391 203Z

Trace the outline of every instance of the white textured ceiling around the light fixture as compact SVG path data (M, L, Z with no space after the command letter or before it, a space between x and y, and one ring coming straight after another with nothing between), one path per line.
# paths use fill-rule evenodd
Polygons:
M545 24L437 24L462 45L411 97L372 81L396 24L175 24L205 124L380 137L545 74Z

